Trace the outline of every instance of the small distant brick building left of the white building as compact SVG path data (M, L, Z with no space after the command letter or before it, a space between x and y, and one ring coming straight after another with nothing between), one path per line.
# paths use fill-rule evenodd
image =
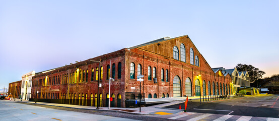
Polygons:
M9 94L12 94L12 97L20 98L20 92L21 92L21 82L22 81L16 81L9 83Z

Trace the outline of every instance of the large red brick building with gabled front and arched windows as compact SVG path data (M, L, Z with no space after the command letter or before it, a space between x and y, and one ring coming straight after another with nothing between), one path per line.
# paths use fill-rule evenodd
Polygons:
M91 60L101 60L100 69L99 63ZM99 73L102 86L97 94ZM115 81L108 95L110 74ZM36 74L32 98L65 99L70 104L97 106L99 95L100 106L107 106L108 98L112 97L112 107L124 107L127 93L140 92L137 75L144 75L141 88L145 98L213 95L221 89L217 84L230 85L231 82L230 76L218 75L212 70L185 35L157 39Z

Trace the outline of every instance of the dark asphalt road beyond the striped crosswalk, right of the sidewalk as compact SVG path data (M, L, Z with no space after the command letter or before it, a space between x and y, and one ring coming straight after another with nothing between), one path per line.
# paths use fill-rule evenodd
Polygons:
M279 95L245 96L235 99L199 102L188 101L187 111L213 114L245 115L257 117L279 117ZM184 103L181 103L184 109ZM179 108L179 104L167 106Z

